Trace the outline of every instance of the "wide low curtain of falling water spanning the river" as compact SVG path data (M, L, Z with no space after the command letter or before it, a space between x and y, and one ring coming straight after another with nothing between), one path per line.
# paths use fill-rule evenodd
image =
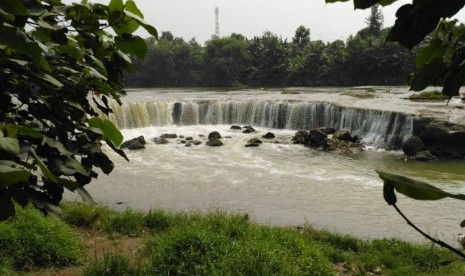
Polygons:
M367 144L398 149L412 134L413 116L390 111L351 108L328 102L266 100L157 101L111 106L119 128L167 125L241 124L309 130L348 129Z

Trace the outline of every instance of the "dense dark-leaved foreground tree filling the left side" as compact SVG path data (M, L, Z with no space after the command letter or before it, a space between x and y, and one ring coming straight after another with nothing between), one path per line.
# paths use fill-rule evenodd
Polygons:
M0 220L13 202L53 214L64 189L91 200L84 186L97 168L113 170L103 142L126 158L121 133L97 111L120 102L130 55L146 55L138 27L157 36L131 0L0 1Z

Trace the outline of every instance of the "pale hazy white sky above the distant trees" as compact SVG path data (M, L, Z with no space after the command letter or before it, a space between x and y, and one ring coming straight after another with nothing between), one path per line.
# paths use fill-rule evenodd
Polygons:
M366 26L369 10L354 10L353 2L326 4L324 0L135 0L145 21L158 32L204 43L215 33L215 7L219 8L220 36L239 33L248 38L271 31L291 40L300 25L312 40L346 40ZM65 3L75 2L64 0ZM91 2L109 1L97 0ZM411 0L383 7L384 26L392 26L396 10ZM456 18L465 22L465 9ZM144 32L138 33L148 36Z

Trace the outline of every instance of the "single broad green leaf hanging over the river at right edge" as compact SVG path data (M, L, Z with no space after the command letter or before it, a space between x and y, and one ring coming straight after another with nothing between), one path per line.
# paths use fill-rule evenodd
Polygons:
M446 197L465 200L463 194L451 194L426 182L406 176L376 170L385 185L393 185L396 191L417 200L439 200Z

